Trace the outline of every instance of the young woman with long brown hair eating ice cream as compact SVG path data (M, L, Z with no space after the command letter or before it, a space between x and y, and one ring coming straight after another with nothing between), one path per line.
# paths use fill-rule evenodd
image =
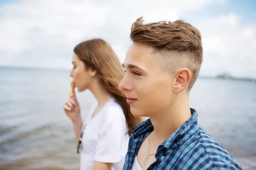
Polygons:
M141 122L131 114L125 93L119 90L123 68L111 46L101 39L78 44L72 63L70 77L78 91L89 89L96 98L85 122L75 93L70 92L64 105L79 143L78 153L81 147L80 170L121 170L129 136Z

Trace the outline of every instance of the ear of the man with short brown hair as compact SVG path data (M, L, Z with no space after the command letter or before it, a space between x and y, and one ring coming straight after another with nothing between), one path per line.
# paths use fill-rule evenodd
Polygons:
M174 91L176 93L181 93L184 89L187 88L191 79L191 73L187 68L181 68L174 73L175 85Z

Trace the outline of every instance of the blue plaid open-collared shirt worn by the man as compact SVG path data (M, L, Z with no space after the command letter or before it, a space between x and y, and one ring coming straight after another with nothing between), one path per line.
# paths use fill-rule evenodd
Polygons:
M159 145L148 170L241 170L238 162L198 124L198 113ZM123 170L131 170L140 145L154 127L151 120L134 127Z

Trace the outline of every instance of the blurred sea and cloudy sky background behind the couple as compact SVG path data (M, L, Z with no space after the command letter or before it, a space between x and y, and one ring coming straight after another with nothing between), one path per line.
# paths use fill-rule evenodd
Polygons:
M122 63L141 16L201 31L204 62L190 105L244 170L256 169L255 9L254 0L0 0L0 170L79 169L62 109L73 48L102 38ZM85 119L93 96L77 97Z

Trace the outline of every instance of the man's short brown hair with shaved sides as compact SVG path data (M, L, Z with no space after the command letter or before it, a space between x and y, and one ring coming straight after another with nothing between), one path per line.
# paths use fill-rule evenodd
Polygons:
M201 34L197 28L183 20L143 24L143 17L140 17L132 24L130 37L133 42L153 46L164 71L173 73L188 68L191 80L187 89L191 90L203 62Z

